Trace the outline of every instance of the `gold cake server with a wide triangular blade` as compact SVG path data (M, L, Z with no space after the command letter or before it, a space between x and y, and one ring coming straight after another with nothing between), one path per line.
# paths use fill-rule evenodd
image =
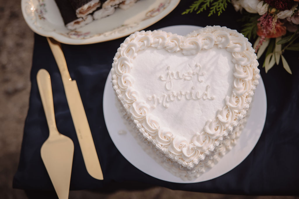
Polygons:
M49 137L42 145L40 154L58 198L67 199L70 189L74 143L71 138L60 134L57 130L51 79L48 71L39 70L36 79L49 127Z

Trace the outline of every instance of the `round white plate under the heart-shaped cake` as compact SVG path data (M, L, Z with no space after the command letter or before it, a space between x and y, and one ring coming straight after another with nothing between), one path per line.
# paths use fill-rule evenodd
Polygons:
M165 27L161 30L177 33L179 35L187 35L199 28L201 27L180 25ZM132 133L129 133L129 129L125 125L122 115L116 107L116 103L119 102L115 97L115 91L112 87L112 77L111 73L109 73L104 89L103 110L106 126L113 143L120 153L136 168L152 177L175 183L207 181L234 169L249 155L257 144L264 128L267 111L266 91L263 80L260 78L259 85L255 90L254 101L252 102L252 109L247 124L243 129L236 146L225 154L224 157L222 157L210 170L192 181L184 181L165 170L142 149Z

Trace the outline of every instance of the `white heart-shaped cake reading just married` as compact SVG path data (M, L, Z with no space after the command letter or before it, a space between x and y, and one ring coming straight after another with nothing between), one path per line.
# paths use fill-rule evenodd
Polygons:
M147 141L198 176L240 133L260 78L256 58L248 39L226 27L141 31L118 48L112 82Z

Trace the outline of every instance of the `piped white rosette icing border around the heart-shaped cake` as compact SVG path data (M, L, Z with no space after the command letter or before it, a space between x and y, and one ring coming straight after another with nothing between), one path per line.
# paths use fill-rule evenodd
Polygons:
M132 61L139 50L147 47L165 49L170 53L181 52L189 56L216 45L233 56L234 85L225 106L213 120L208 120L203 132L197 132L191 143L174 136L171 129L161 127L159 119L149 111L149 104L139 99L134 89ZM166 33L161 30L135 32L125 39L115 54L112 64L113 88L142 135L168 158L187 169L194 169L211 155L230 132L245 117L254 90L260 78L258 62L251 43L236 30L220 26L207 26L187 36Z

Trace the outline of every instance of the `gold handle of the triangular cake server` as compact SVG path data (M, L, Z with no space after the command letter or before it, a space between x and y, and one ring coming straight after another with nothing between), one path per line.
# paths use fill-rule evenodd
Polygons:
M40 69L37 72L36 80L39 89L39 94L42 99L42 106L44 107L45 115L47 118L50 134L58 132L55 123L50 74L48 73L47 70Z

